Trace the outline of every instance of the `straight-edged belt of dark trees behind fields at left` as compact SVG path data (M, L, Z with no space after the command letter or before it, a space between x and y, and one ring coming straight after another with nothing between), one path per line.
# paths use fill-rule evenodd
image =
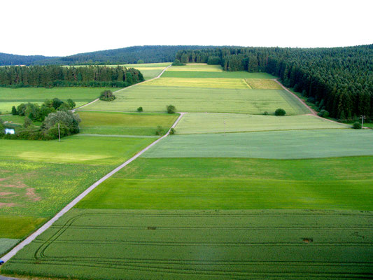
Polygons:
M127 87L143 81L137 69L122 66L4 66L1 87Z

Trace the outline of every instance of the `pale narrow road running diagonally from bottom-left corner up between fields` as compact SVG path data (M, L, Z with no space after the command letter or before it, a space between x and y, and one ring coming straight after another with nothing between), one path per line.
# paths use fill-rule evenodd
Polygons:
M181 120L181 118L183 118L184 114L185 113L180 113L180 116L178 116L178 118L175 121L174 125L171 126L171 128L169 129L169 131L166 134L164 134L164 136L160 137L160 139L155 140L153 143L151 143L150 145L146 146L146 148L143 148L141 151L139 151L139 153L136 153L136 155L134 155L132 158L129 158L129 160L127 160L126 162L122 163L122 165L120 165L120 166L116 167L115 169L113 169L113 171L111 171L108 174L106 174L104 177L102 177L101 179L99 179L99 181L96 181L95 183L93 183L92 186L90 186L89 188L87 188L83 193L80 193L80 195L78 195L72 202L70 202L69 204L67 204L61 211L59 211L53 218L51 218L41 228L38 228L38 230L36 230L36 232L34 232L29 237L27 237L26 239L24 239L23 241L21 241L20 244L17 244L17 246L15 246L11 251L9 251L8 253L6 253L6 255L3 255L3 258L1 258L1 260L3 260L3 262L7 262L8 260L10 260L10 258L12 258L16 253L18 253L18 251L20 251L24 246L30 244L32 241L34 241L34 239L36 239L36 237L38 237L43 232L45 232L45 230L48 230L48 228L50 228L50 226L53 223L55 223L59 218L61 218L70 209L72 209L76 204L78 204L78 202L80 202L80 200L83 200L83 198L85 196L87 196L90 192L92 192L92 190L94 190L94 188L96 188L97 186L99 186L100 183L104 182L106 179L109 179L115 173L117 173L118 171L120 171L120 169L122 169L123 167L129 165L129 163L131 163L134 160L136 160L136 158L139 158L139 156L142 155L143 153L145 153L146 151L148 151L149 148L155 146L159 141L161 141L165 137L169 136L169 132L171 131L171 129L173 129L174 127L176 127L176 125L178 124L179 120Z

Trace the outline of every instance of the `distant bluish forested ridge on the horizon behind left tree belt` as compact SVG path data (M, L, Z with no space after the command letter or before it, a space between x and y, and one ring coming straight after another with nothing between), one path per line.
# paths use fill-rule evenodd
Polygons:
M85 65L172 62L178 50L212 48L202 45L143 45L85 52L66 57L22 56L0 53L0 65ZM141 62L141 63L143 63Z

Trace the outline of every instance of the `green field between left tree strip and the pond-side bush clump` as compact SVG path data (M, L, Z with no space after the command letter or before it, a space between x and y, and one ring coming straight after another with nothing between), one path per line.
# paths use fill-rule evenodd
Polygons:
M63 101L71 98L76 106L81 106L99 97L100 92L108 90L105 87L0 87L0 112L8 113L12 106L21 103L42 104L45 99L59 98ZM113 90L113 88L110 88Z

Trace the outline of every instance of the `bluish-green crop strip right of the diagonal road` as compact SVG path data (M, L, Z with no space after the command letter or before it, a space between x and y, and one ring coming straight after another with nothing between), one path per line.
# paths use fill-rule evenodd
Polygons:
M146 158L330 158L373 155L372 130L286 130L173 135Z

